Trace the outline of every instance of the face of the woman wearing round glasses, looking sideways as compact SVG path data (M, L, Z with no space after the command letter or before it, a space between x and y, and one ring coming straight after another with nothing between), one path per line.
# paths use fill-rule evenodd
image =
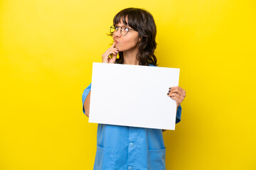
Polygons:
M122 19L116 26L124 26ZM121 52L135 50L139 41L139 33L135 30L129 30L127 35L121 35L120 30L121 28L118 28L118 31L112 35L115 41L115 47Z

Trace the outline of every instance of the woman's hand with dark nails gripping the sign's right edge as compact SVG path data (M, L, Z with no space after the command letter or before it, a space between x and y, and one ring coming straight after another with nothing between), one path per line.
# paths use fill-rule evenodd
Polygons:
M167 96L170 96L172 99L174 99L177 103L177 106L179 106L186 97L186 91L179 86L173 86L169 88Z

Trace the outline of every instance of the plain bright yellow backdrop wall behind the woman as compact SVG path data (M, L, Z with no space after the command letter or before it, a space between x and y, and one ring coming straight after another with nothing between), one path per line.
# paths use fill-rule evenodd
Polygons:
M0 169L92 169L97 124L82 113L92 62L123 8L157 26L159 67L180 68L181 123L167 169L256 169L255 1L0 1ZM168 77L166 77L168 79Z

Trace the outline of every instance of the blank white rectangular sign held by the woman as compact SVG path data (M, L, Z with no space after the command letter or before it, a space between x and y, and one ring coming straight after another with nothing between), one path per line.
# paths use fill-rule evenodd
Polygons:
M92 63L89 123L175 130L180 69Z

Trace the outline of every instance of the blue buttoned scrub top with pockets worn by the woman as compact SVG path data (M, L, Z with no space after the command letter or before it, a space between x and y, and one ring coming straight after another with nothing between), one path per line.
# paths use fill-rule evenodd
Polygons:
M83 113L91 86L87 86L82 94ZM181 105L176 113L176 123L180 121ZM165 158L166 147L161 129L98 123L94 170L165 170Z

